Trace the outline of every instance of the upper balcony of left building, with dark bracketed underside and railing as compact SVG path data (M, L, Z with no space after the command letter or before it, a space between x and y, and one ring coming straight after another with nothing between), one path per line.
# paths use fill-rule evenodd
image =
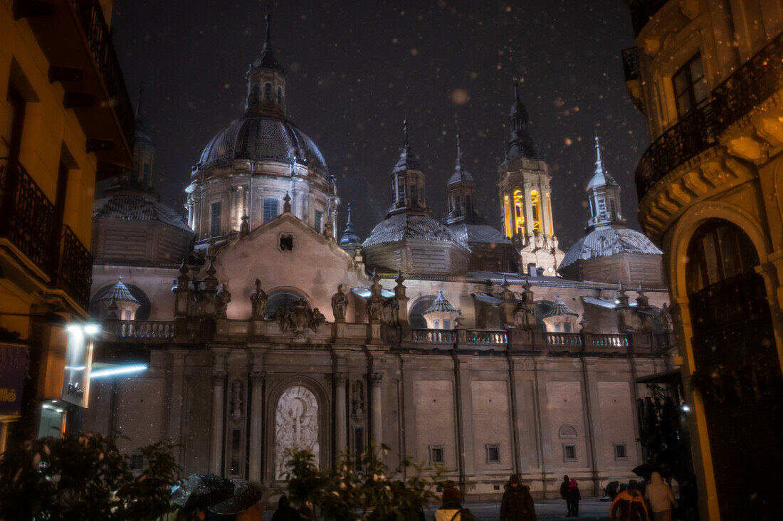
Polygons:
M63 106L74 110L85 150L102 163L99 179L132 168L133 107L98 0L15 0L13 13L30 24L49 61L49 81L63 85Z

